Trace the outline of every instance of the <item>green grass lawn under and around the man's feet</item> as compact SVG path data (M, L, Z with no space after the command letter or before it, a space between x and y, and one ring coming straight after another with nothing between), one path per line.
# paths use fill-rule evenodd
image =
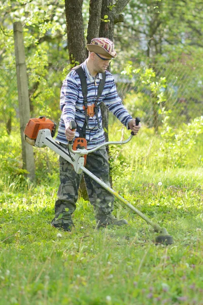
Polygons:
M73 231L54 229L58 183L2 187L0 304L203 304L202 168L116 176L115 190L173 235L170 246L117 200L125 227L95 229L80 199Z

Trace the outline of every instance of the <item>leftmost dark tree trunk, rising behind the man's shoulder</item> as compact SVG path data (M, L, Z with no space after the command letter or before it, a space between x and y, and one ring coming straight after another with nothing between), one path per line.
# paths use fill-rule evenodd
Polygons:
M73 65L75 61L78 61L81 64L87 58L85 51L82 5L83 0L65 0L67 44L69 48L70 63Z

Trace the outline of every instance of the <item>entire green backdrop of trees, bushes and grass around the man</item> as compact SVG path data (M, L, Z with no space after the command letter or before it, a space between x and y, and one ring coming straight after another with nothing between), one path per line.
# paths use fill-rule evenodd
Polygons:
M95 230L82 197L71 234L50 226L58 157L36 148L36 181L25 177L13 22L23 24L31 117L58 123L61 83L77 58L69 62L63 1L0 4L0 302L202 304L201 2L131 0L114 28L118 57L111 72L143 127L129 144L110 148L113 187L167 228L175 241L170 247L154 246L148 225L118 201L114 215L128 220L126 228ZM86 37L88 1L82 12ZM101 16L101 23L110 22ZM111 114L108 135L128 136Z

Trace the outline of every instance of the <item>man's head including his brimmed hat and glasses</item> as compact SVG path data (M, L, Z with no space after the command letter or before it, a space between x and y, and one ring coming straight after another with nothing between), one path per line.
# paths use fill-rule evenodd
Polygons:
M86 45L89 51L89 60L93 72L104 73L109 63L117 56L114 50L114 43L108 38L93 38L90 44Z

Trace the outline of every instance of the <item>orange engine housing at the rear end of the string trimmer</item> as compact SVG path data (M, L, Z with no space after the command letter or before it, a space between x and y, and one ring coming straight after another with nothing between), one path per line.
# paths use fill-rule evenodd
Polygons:
M45 116L30 118L25 127L24 134L29 139L36 140L38 132L41 129L49 129L51 131L51 136L54 137L56 132L56 124Z

